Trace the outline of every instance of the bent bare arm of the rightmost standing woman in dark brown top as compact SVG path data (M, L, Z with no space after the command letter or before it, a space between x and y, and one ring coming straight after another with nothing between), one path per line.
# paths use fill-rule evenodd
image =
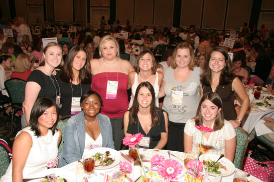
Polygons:
M237 117L237 119L240 119L242 121L248 110L249 97L245 90L245 87L243 86L242 82L238 77L236 77L232 82L232 90L234 90L236 94L238 94L240 99L243 101L239 115ZM229 122L231 122L234 128L238 127L241 124L241 122L237 120L230 120Z

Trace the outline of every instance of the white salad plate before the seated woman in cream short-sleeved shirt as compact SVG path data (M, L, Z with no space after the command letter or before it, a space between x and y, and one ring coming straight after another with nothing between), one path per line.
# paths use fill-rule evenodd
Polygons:
M208 160L208 159L211 159L213 161L216 161L218 160L220 157L220 155L215 155L215 154L203 154L200 156L200 161L205 161L205 160ZM220 162L221 164L223 164L227 170L224 170L224 169L219 169L221 171L221 174L223 174L223 176L229 176L231 174L234 173L235 171L235 166L234 164L228 160L227 158L223 157L222 159L220 159L218 162ZM211 176L217 176L219 174L214 174L214 173L208 173L209 175Z

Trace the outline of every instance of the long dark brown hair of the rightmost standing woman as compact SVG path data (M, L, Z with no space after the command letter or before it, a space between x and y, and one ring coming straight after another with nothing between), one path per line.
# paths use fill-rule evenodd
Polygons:
M232 83L234 79L234 75L232 74L232 62L229 58L229 55L227 51L222 47L215 47L212 49L212 51L209 53L207 57L207 66L204 68L203 73L200 76L200 81L202 85L204 86L210 86L211 85L211 69L209 67L209 61L211 58L211 54L214 52L220 52L225 57L225 67L223 68L221 75L220 75L220 85L227 85L229 83Z

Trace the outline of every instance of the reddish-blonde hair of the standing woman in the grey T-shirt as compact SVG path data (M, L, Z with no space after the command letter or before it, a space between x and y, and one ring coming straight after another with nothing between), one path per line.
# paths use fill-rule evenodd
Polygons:
M187 42L181 42L180 44L178 44L176 46L176 48L174 49L173 51L173 55L172 55L172 64L171 64L171 67L173 69L175 69L177 67L177 64L176 64L176 54L177 54L177 50L178 49L188 49L189 52L190 52L190 56L191 56L191 60L188 64L188 68L190 70L193 70L193 67L195 66L195 60L194 60L194 52L193 52L193 48L191 47L190 44L188 44Z

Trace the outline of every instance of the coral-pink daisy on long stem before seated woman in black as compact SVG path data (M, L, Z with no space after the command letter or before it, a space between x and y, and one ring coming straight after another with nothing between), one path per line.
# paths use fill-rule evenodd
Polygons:
M142 166L142 171L143 171L145 180L146 180L146 182L148 182L147 178L146 178L146 175L145 175L145 172L144 172L144 168L143 168L143 164L142 164L142 159L141 159L139 151L138 151L138 144L140 143L140 141L142 140L142 138L143 138L143 135L141 133L133 134L131 136L126 136L123 139L123 144L129 146L132 149L135 148L134 151L137 152L137 155L138 155L138 157L140 159L140 163L141 163L141 166Z

